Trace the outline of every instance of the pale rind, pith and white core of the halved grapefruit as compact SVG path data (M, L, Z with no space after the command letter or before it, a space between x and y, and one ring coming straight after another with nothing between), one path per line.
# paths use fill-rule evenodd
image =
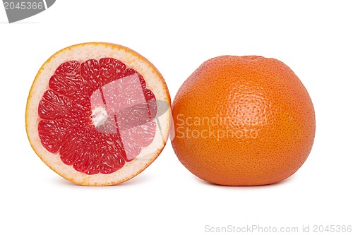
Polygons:
M133 68L140 73L145 79L146 86L155 94L156 100L162 100L169 103L169 94L167 86L164 83L162 76L150 62L133 52L132 50L121 47L115 44L107 43L86 43L78 44L68 49L63 49L54 54L43 66L37 74L37 77L32 84L32 89L28 96L28 104L26 108L26 129L28 138L37 155L56 173L63 176L65 179L78 184L95 186L95 185L113 185L131 179L143 171L148 165L155 160L160 154L169 135L169 126L171 120L171 109L158 117L157 121L161 128L157 127L153 142L143 148L140 154L131 162L126 162L124 167L115 171L112 174L94 174L87 175L73 169L61 162L59 153L52 154L47 151L40 142L38 135L38 123L40 121L38 112L38 103L44 92L49 88L49 78L54 74L56 68L64 61L77 60L82 63L88 59L101 59L102 57L112 57L126 64L128 68ZM158 107L157 102L157 109ZM92 121L95 126L99 126L104 122L104 107L93 111ZM105 111L106 112L106 111ZM94 116L95 115L95 116ZM158 125L157 125L158 126Z

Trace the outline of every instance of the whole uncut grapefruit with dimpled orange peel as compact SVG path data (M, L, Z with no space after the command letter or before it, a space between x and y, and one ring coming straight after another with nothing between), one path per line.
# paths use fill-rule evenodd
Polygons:
M199 178L257 186L292 176L315 135L309 93L277 59L219 56L181 85L172 105L172 146Z

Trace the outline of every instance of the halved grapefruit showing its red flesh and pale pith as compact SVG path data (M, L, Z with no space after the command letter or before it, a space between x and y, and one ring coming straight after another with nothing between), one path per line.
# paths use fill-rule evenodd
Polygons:
M40 68L26 107L33 150L69 181L107 186L160 155L171 119L167 85L140 54L90 42L62 49Z

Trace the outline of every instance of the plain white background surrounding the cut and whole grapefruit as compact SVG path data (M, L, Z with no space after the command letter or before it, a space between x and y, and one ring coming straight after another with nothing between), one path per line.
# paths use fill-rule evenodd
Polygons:
M6 21L1 6L0 234L210 234L205 225L299 231L309 224L353 225L351 1L58 0L37 16ZM311 155L294 176L271 186L205 183L179 163L170 142L148 169L121 185L92 188L61 179L28 143L26 99L49 56L92 41L145 56L164 76L172 99L211 57L280 59L297 73L316 109Z

